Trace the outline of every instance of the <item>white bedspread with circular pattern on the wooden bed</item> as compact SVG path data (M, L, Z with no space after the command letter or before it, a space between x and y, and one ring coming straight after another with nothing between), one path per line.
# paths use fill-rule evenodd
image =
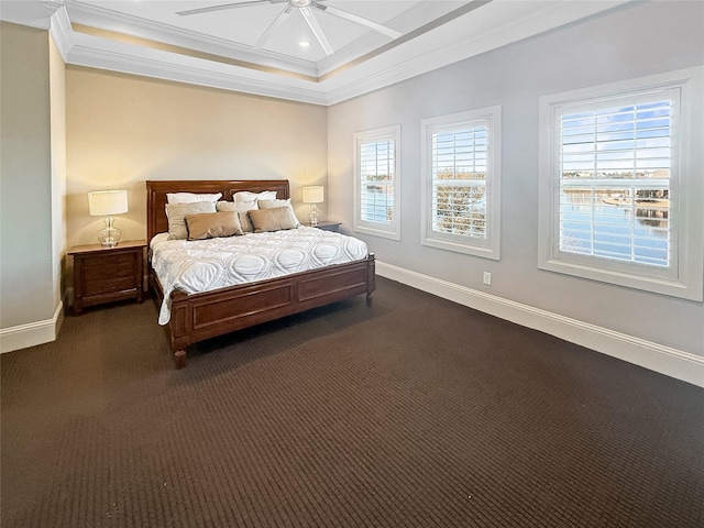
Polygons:
M152 239L152 267L164 288L160 324L170 318L170 294L188 294L280 277L331 264L359 261L367 255L361 240L340 233L300 227L270 233L251 233L208 240Z

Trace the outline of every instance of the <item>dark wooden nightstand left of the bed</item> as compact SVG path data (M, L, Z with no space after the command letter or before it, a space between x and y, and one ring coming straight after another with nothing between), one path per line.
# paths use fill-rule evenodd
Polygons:
M72 248L68 254L74 257L74 312L113 300L142 302L144 248L144 240L120 242L114 248Z

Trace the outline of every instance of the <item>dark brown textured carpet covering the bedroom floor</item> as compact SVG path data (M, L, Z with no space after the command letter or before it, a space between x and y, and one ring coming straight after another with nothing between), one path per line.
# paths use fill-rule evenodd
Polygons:
M704 526L704 391L378 279L175 371L152 302L3 354L2 527Z

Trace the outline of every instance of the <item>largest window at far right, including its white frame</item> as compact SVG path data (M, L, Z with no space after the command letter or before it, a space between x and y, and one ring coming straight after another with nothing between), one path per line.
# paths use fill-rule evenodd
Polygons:
M681 74L541 99L540 267L702 300L686 147L702 123L685 110L695 72Z

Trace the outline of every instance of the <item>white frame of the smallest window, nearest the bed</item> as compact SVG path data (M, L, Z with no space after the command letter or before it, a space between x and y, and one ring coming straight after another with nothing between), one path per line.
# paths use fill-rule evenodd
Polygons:
M354 134L354 231L373 237L400 240L400 124L371 129ZM362 218L361 147L364 144L389 141L394 144L393 209L391 222L375 222Z

